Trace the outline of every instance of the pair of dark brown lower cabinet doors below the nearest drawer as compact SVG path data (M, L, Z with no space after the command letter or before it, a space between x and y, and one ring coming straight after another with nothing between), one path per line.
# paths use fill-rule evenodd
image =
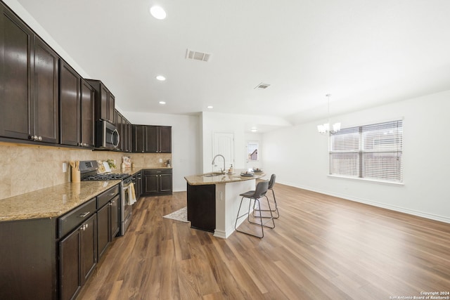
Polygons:
M74 299L97 264L97 215L59 243L60 299Z

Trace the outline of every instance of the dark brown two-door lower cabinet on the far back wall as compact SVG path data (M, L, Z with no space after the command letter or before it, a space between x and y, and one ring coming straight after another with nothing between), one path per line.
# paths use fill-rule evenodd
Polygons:
M143 195L172 194L172 169L146 169L142 172Z

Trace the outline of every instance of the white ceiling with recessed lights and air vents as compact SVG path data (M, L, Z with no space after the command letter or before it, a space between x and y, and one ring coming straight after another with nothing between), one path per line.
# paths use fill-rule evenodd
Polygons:
M18 2L124 111L298 124L326 117L326 93L337 114L450 89L448 0Z

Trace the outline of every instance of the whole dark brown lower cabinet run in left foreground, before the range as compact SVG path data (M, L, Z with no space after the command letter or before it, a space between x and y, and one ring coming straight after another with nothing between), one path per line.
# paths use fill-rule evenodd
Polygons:
M119 232L119 209L115 185L58 218L0 221L0 299L74 299Z

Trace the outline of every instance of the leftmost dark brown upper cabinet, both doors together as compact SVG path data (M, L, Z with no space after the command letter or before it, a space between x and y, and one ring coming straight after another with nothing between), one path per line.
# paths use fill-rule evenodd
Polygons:
M59 142L58 54L0 3L0 136Z

